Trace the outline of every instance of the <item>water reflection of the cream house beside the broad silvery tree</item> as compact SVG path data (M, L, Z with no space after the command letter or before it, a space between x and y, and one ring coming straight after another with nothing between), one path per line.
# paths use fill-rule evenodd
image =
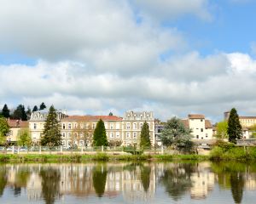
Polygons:
M197 171L192 173L193 186L190 189L192 199L205 199L214 187L214 173L210 171L208 162L198 164Z

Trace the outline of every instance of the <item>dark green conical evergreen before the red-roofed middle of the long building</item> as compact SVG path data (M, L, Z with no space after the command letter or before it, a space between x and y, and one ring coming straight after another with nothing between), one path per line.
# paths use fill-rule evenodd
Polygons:
M93 145L94 146L108 146L108 139L104 122L100 119L97 122L96 128L93 133Z

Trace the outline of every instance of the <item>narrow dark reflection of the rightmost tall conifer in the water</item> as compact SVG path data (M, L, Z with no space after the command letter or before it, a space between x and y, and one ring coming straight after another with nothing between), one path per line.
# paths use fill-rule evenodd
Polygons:
M230 175L231 192L236 203L241 203L244 178L241 173L231 173Z

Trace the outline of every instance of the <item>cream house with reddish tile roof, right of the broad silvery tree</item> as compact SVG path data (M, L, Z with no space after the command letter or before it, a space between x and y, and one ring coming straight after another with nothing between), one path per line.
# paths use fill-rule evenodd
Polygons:
M189 114L183 123L192 130L193 139L212 139L212 123L204 115Z

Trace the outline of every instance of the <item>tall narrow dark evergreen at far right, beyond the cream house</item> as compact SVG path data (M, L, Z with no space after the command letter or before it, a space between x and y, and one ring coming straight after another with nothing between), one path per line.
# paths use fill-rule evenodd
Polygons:
M232 143L236 143L236 139L241 139L242 132L241 124L239 122L239 116L235 108L232 108L230 111L228 126L229 141Z

